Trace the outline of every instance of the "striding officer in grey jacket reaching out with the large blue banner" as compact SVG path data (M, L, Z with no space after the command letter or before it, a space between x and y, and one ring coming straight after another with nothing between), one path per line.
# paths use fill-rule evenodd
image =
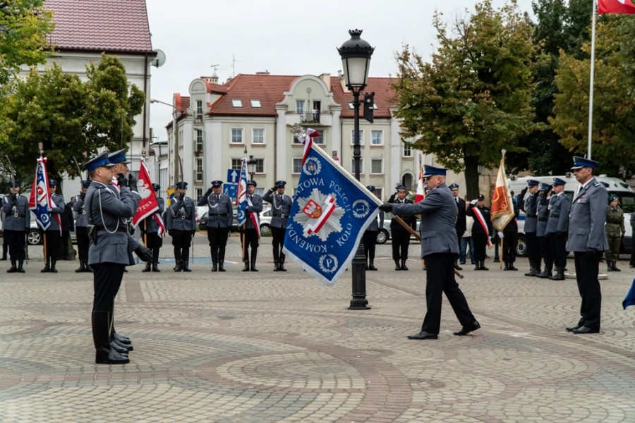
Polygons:
M454 279L454 260L459 254L456 243L456 201L445 185L446 169L438 166L424 165L423 178L428 183L430 192L425 200L415 204L384 203L380 209L401 216L421 214L421 258L425 259L426 286L425 298L428 311L423 319L421 331L408 336L409 339L437 339L441 326L442 293L449 300L456 317L461 323L461 330L454 335L467 335L480 324L470 311L467 300Z

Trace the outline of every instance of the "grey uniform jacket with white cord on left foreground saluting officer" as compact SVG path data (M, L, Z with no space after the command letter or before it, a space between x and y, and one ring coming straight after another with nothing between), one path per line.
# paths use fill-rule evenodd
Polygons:
M95 225L97 242L90 242L88 264L134 264L126 221L137 206L138 201L127 187L121 187L118 197L107 185L95 180L90 183L84 207Z

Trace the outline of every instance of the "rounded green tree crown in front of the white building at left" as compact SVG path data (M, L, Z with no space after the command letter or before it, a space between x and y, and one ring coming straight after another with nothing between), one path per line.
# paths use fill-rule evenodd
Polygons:
M81 164L99 149L121 149L130 142L134 116L145 102L143 92L135 85L128 88L126 69L113 56L102 55L99 63L87 66L87 78L83 82L54 64L44 73L34 68L16 82L0 106L8 131L0 149L11 157L18 178L32 178L39 142L56 178L62 173L80 176L76 161Z

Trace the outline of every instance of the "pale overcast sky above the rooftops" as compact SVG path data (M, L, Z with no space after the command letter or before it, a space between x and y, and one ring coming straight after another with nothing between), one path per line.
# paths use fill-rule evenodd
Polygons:
M152 99L171 103L172 94L188 95L190 82L214 73L219 81L238 73L337 75L337 47L349 29L375 47L370 76L397 73L394 59L404 44L429 56L436 45L435 10L449 21L473 11L472 0L147 0L152 48L167 59L152 68ZM492 0L495 7L504 0ZM518 0L531 13L531 0ZM167 140L171 108L151 105L155 137Z

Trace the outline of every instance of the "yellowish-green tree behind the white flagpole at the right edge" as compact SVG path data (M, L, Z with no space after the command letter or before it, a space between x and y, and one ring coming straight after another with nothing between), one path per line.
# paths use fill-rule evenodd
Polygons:
M600 172L622 178L635 173L634 33L630 16L603 17L595 32L592 154ZM590 45L583 49L588 55ZM588 148L590 73L589 59L562 52L550 123L562 145L579 155Z

